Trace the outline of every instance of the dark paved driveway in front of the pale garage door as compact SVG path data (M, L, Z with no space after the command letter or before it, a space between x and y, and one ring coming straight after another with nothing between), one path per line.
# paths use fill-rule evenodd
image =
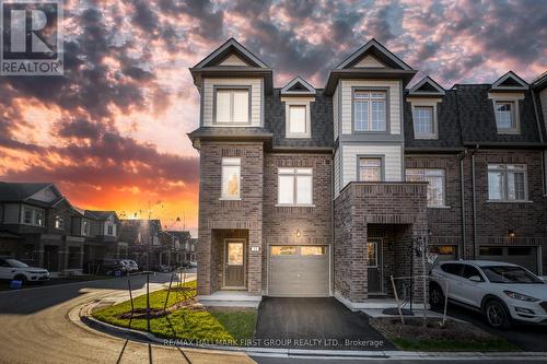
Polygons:
M370 325L334 297L265 297L255 339L261 347L328 350L395 350Z

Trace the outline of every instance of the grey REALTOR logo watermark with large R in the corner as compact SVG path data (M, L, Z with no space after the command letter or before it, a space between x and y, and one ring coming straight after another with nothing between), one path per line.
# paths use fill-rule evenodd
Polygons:
M61 75L62 0L0 0L0 74Z

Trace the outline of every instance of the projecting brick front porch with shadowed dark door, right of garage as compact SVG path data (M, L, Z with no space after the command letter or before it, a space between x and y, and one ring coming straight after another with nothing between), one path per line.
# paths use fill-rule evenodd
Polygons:
M427 240L427 184L350 183L335 200L334 295L351 309L396 307L391 277L423 273L412 246ZM419 281L396 281L422 301Z

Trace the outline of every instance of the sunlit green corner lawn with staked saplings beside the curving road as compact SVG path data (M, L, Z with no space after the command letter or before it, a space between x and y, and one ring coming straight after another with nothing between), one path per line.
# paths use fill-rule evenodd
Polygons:
M232 308L232 307L202 307L195 304L196 281L185 284L188 287L186 298L182 292L171 292L167 307L171 307L167 316L154 317L150 320L150 331L161 338L181 339L200 343L229 343L237 344L242 340L253 338L256 326L256 309ZM150 294L150 307L163 309L167 290L156 291ZM183 305L182 303L186 303ZM147 296L142 295L133 300L135 308L147 307ZM174 306L175 305L175 306ZM173 307L175 307L173 309ZM93 317L102 321L129 327L129 319L120 317L129 313L131 304L129 301L100 308L93 313ZM126 314L127 315L127 314ZM131 328L147 330L146 318L132 319Z

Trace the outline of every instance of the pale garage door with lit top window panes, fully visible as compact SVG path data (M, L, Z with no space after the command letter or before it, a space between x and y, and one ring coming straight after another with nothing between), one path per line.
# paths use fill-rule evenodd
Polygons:
M327 246L270 246L268 294L328 296Z

